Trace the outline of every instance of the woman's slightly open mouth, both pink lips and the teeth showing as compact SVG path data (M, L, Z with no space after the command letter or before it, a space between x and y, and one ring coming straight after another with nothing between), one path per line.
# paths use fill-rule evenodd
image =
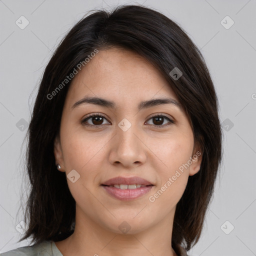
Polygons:
M119 200L133 200L148 193L154 185L141 177L115 177L108 179L101 187L111 197Z

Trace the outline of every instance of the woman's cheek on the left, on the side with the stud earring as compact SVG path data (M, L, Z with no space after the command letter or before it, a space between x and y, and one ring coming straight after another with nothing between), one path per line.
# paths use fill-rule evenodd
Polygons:
M75 183L69 181L67 176L71 193L75 196L78 192L79 197L79 189L84 190L84 186L94 189L95 182L98 182L97 178L100 175L98 170L102 169L102 161L106 157L104 147L107 146L109 137L104 135L95 137L85 131L77 130L72 130L69 134L71 135L63 137L62 143L64 165L66 175L72 169L80 175Z

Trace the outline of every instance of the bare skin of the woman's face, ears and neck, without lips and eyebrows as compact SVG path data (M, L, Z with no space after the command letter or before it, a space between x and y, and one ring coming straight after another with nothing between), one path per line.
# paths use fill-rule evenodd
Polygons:
M86 103L72 109L85 95L114 101L117 107ZM160 96L177 100L155 67L121 48L100 50L73 78L54 143L60 171L67 175L75 169L80 175L74 183L67 178L76 201L76 224L72 235L55 242L63 256L176 255L171 247L176 204L188 176L199 170L201 156L184 168L154 202L149 201L149 196L199 150L188 118L179 107L161 104L138 111L140 101ZM101 122L87 120L94 126L101 123L99 127L81 123L89 113L103 115ZM175 123L151 118L158 113ZM118 126L123 118L131 124L126 131ZM162 128L157 128L159 125ZM116 176L143 177L154 186L139 198L119 200L100 186ZM130 226L127 233L118 228L123 221Z

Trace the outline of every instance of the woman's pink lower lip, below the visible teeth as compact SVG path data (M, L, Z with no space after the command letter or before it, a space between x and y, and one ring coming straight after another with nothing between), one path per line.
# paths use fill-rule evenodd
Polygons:
M148 193L153 185L139 187L135 189L120 189L114 186L104 186L103 188L113 197L120 200L132 200Z

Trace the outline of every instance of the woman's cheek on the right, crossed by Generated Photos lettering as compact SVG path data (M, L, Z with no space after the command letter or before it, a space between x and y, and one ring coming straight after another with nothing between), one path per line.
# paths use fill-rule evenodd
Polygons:
M176 132L166 139L154 139L154 153L160 159L160 165L155 166L160 177L160 191L155 196L161 197L158 203L166 202L169 207L178 202L187 184L189 167L185 164L193 149L192 133L187 134Z

